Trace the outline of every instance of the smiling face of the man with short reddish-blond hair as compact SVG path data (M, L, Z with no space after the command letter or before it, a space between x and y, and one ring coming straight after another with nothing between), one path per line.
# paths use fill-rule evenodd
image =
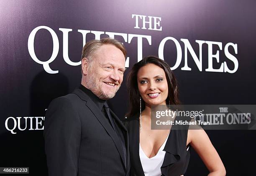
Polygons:
M123 82L124 71L122 51L114 45L102 45L88 67L87 88L102 100L113 98Z

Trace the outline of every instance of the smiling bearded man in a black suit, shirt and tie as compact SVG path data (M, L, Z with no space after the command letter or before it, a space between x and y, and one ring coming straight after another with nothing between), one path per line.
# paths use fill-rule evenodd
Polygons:
M82 81L54 99L44 123L49 176L128 176L128 133L106 100L120 88L126 50L115 39L91 40L82 50Z

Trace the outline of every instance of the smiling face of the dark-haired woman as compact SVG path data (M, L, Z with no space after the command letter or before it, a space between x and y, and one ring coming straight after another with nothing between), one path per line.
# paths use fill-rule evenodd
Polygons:
M164 70L149 63L138 70L138 89L146 106L165 105L168 96L168 84Z

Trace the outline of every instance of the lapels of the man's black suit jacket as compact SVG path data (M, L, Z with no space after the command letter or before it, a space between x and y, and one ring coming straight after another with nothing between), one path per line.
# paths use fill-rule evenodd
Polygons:
M86 106L92 111L92 113L95 115L95 117L100 122L100 124L103 126L103 128L105 128L105 130L107 131L109 136L112 138L113 142L115 143L115 146L116 146L116 148L117 148L117 150L118 150L118 152L119 152L119 154L122 158L123 165L125 166L124 156L123 156L123 149L122 149L121 143L118 139L117 134L115 133L112 126L108 122L107 118L105 116L103 116L103 114L101 113L101 110L99 110L99 108L96 106L96 104L82 90L76 89L73 93L75 93L77 96L79 96L82 100L85 101ZM112 111L112 113L113 113L113 111ZM113 116L115 116L115 115L113 114ZM118 117L115 116L115 118L118 118ZM121 124L121 125L123 125L123 124ZM123 128L125 128L125 127L123 126ZM125 129L125 131L127 133L126 129Z

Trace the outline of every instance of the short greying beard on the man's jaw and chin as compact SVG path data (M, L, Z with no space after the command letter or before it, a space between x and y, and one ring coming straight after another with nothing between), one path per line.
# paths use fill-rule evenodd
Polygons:
M92 93L94 93L98 98L102 99L102 100L108 100L110 98L113 98L115 96L115 93L119 90L120 88L120 85L117 85L118 88L116 89L115 92L112 92L112 93L105 93L103 90L102 90L102 86L100 83L96 83L95 80L96 80L96 75L94 72L91 72L89 73L90 75L90 79L88 79L87 81L87 88L92 91Z

